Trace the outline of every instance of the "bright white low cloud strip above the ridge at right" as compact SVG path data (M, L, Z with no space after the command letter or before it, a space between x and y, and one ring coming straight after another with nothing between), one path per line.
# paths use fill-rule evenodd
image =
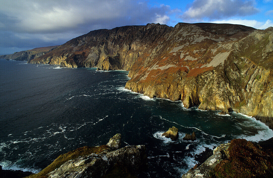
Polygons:
M239 24L245 26L251 26L257 29L266 29L270 26L273 26L271 20L266 20L266 22L259 22L257 20L242 20L242 19L230 19L230 20L215 20L210 23L231 23L231 24Z

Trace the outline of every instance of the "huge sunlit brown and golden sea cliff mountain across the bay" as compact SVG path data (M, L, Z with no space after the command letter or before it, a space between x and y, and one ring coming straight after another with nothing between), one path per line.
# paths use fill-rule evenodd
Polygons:
M178 23L100 29L29 63L129 70L125 88L186 108L237 111L273 128L273 28Z

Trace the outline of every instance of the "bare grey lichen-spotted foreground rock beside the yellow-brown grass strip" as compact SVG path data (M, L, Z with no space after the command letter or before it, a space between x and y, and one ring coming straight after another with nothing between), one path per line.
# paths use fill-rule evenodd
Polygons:
M134 174L140 173L147 167L146 147L144 145L126 146L106 154L81 156L65 162L61 167L48 173L48 178L84 178L102 177L114 165L127 169ZM118 175L116 175L118 176Z

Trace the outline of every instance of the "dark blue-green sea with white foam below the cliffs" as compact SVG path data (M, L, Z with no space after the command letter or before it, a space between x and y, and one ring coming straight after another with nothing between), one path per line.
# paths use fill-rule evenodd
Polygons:
M127 71L59 68L0 59L0 164L3 169L39 172L58 155L82 146L144 144L146 177L180 177L197 162L189 156L233 138L273 137L255 118L186 109L181 101L149 98L124 89ZM177 141L161 134L179 129ZM195 132L197 140L183 141Z

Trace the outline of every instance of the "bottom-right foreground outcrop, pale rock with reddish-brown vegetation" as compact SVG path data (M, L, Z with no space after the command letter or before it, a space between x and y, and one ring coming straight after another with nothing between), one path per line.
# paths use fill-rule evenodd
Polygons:
M261 145L244 139L221 144L203 164L190 169L182 178L272 177L273 150L262 146L268 143L272 144L272 139Z

